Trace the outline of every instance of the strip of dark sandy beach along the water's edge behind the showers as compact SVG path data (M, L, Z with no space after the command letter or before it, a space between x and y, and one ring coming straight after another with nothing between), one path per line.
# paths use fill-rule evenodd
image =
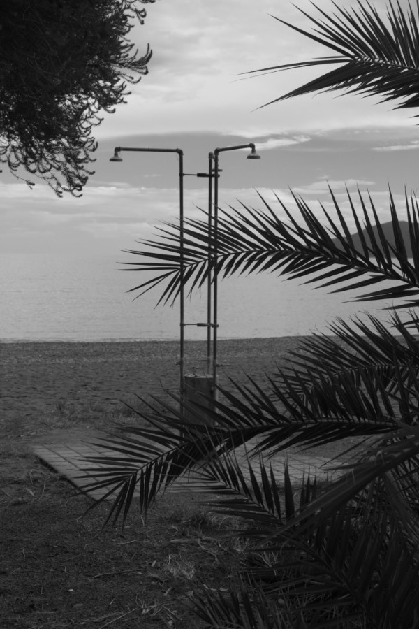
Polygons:
M219 382L244 382L265 374L284 360L301 337L219 341ZM185 345L185 373L203 373L205 342ZM0 412L5 416L39 414L71 402L78 412L91 405L131 403L135 395L178 391L179 343L147 342L21 342L0 344Z

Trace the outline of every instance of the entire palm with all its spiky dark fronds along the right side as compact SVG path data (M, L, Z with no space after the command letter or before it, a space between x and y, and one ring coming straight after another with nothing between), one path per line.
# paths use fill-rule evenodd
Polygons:
M369 3L358 3L352 13L335 7L335 14L310 18L316 34L301 32L339 54L306 65L344 66L295 94L346 87L416 105L413 9L404 14L390 4L386 26ZM285 67L291 66L273 69ZM140 412L147 427L110 435L106 443L115 456L96 457L90 470L99 478L86 489L116 491L113 523L126 518L135 489L147 512L159 492L191 473L211 509L242 519L240 535L249 537L251 551L240 582L229 593L196 593L196 612L210 627L419 626L418 203L406 196L406 237L390 192L389 237L372 199L358 193L355 201L348 193L355 238L330 196L335 215L323 208L321 218L299 196L292 210L279 198L273 208L260 197L261 209L242 204L240 211L221 212L216 267L214 258L208 261L214 233L205 216L188 219L185 287L202 287L209 270L221 278L260 271L307 277L335 291L361 289L360 301L394 300L388 321L372 315L367 322L335 321L331 336L312 335L291 353L288 366L272 368L267 388L249 379L233 392L221 391L212 426L200 424L198 403L183 403L196 423L184 421L176 396L172 406L148 403ZM133 268L157 277L135 290L163 286L160 301L172 301L182 277L179 226L167 224L143 245L132 252L140 255ZM376 286L384 280L394 282ZM290 447L335 442L344 451L348 437L359 438L360 447L346 452L339 475L320 488L306 479L295 505L288 472L279 478L272 457ZM244 463L236 456L243 444Z

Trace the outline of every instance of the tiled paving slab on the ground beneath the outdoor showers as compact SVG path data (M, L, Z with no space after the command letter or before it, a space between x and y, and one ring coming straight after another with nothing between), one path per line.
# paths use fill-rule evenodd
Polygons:
M100 435L98 435L100 440ZM240 451L241 450L241 451ZM105 447L93 445L85 442L76 442L71 444L47 444L42 447L36 447L35 455L39 460L52 468L55 472L58 472L61 476L68 479L75 487L82 489L82 487L89 482L90 479L83 478L86 474L87 468L96 467L96 463L86 461L87 457L91 456L115 456L115 452L110 451ZM243 448L236 449L236 456L239 461L242 461L244 455ZM302 454L293 453L292 456L285 454L279 454L275 456L271 463L275 472L277 482L281 483L281 479L284 479L284 464L288 462L288 470L291 477L293 486L301 486L302 478L307 479L307 473L310 473L310 477L318 480L330 478L332 471L330 468L337 465L337 461L333 461L332 465L328 458L304 456ZM258 463L256 460L252 461L253 471L258 476ZM242 466L244 475L246 476L246 466ZM92 478L93 479L93 478ZM191 477L189 479L179 479L176 481L169 491L177 492L189 492L196 489L198 485L198 479ZM89 496L94 500L98 500L107 493L105 489L98 489L96 491L89 492Z

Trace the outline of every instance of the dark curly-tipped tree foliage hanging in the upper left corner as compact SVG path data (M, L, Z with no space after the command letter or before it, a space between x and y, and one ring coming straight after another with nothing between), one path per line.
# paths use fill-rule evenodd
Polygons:
M78 195L94 126L147 73L128 40L154 0L10 0L0 11L0 161ZM28 175L26 175L27 177ZM28 180L29 182L29 180Z

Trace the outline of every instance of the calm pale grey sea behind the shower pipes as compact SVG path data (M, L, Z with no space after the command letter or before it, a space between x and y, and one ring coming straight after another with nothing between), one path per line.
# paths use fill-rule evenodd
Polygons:
M177 339L177 305L154 308L156 291L133 301L126 291L145 275L117 268L113 255L1 254L0 340ZM362 310L388 317L377 303L342 303L353 294L328 295L269 274L225 280L219 288L219 338L327 333L335 316L348 319ZM205 321L205 300L187 302L185 318ZM186 339L204 335L205 328L186 328Z

